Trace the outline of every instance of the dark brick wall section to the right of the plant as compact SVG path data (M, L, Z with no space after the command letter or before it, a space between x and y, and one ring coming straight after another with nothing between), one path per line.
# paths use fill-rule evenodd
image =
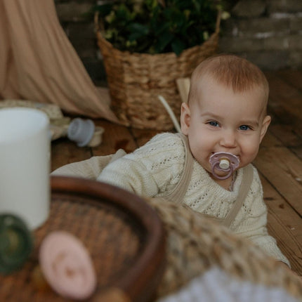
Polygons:
M241 0L222 24L221 51L265 70L302 67L302 1Z

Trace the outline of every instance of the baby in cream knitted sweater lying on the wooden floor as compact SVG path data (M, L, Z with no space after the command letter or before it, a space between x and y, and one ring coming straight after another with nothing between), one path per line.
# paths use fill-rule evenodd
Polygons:
M221 223L232 216L225 224L230 230L289 265L268 235L263 188L251 165L270 124L268 93L263 72L249 61L235 55L204 60L192 73L188 103L181 106L182 134L158 134L108 164L98 180L181 202Z

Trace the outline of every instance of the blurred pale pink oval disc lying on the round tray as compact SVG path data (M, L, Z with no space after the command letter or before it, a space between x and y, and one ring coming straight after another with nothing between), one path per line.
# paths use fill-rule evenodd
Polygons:
M96 289L96 272L88 251L68 232L47 235L41 243L39 261L48 284L65 298L86 299Z

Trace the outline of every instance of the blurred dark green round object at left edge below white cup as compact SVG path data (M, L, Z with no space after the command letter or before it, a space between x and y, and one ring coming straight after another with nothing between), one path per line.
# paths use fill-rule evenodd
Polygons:
M0 214L0 273L18 270L32 251L33 239L27 225L12 214Z

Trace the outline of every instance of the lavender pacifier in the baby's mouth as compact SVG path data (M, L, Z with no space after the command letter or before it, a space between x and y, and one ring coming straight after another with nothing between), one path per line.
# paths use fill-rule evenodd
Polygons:
M212 174L218 179L229 178L232 172L239 166L239 158L229 152L216 152L214 155L211 155L209 162L211 164ZM215 169L229 173L225 176L218 176Z

